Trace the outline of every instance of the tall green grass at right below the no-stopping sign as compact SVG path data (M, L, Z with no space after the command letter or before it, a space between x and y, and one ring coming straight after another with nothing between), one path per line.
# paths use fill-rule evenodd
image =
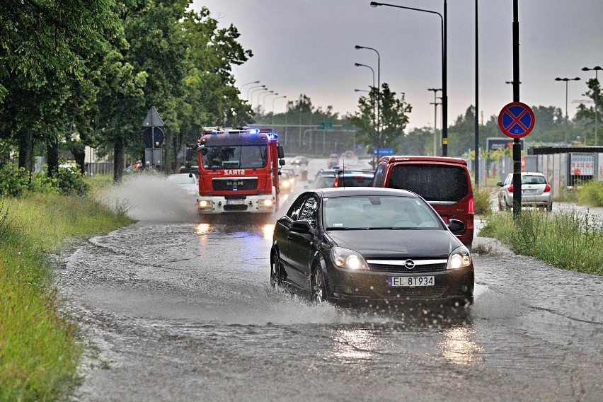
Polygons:
M480 236L558 268L603 275L603 222L590 214L522 209L516 220L500 212L485 217Z

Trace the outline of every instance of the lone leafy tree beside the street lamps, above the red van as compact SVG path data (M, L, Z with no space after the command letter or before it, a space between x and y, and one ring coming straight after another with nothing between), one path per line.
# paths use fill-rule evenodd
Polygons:
M377 88L371 88L368 96L361 96L358 99L358 108L360 110L356 113L348 115L350 122L356 127L356 140L371 149L393 147L396 152L398 139L403 137L404 128L408 124L408 114L413 109L409 103L406 103L405 94L402 93L400 98L396 98L396 93L390 90L389 84L383 83L380 96ZM377 119L377 110L379 110L379 119Z

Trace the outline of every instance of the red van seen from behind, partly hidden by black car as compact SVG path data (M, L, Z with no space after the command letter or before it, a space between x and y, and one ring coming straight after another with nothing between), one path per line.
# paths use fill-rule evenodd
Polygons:
M413 191L425 198L444 222L459 219L465 224L465 230L456 237L471 250L475 201L464 159L384 156L379 160L372 186Z

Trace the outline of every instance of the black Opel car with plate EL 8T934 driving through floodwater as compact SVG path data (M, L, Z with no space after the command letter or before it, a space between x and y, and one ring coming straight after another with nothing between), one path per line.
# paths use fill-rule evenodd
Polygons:
M309 190L277 220L270 283L336 304L473 303L473 262L419 195L388 188Z

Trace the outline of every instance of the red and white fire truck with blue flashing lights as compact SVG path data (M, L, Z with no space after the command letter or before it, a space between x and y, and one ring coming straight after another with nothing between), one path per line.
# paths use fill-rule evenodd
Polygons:
M285 164L277 138L269 128L204 127L197 144L186 152L188 168L197 154L199 212L275 212L279 168Z

